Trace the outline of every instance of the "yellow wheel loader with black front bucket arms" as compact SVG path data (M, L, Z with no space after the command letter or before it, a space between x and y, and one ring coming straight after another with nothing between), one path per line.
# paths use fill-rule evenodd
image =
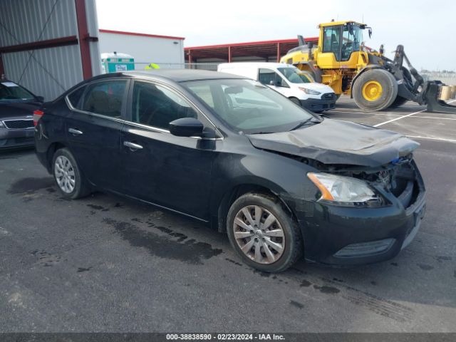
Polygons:
M333 88L337 96L348 94L363 110L383 110L413 100L427 105L427 110L456 113L456 106L438 99L440 81L424 81L411 65L404 47L396 48L394 59L363 43L363 31L371 37L372 29L355 21L331 21L318 25L318 46L299 46L281 58L282 63L297 66L314 76L316 82ZM407 68L403 63L407 63Z

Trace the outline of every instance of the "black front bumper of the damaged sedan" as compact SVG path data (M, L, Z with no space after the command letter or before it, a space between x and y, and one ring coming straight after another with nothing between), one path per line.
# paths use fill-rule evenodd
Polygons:
M425 216L425 187L416 165L413 186L380 190L388 205L342 207L308 202L296 216L307 260L332 265L371 264L395 257L412 242Z

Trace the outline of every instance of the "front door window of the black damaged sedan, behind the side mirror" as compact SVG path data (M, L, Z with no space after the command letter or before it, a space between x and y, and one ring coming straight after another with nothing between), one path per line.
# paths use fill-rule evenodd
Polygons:
M131 108L133 123L169 130L170 122L197 118L186 100L173 91L153 83L135 81Z

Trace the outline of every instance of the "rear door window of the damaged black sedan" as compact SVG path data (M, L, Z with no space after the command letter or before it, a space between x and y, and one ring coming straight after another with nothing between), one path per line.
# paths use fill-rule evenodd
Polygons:
M126 80L102 81L87 86L77 109L86 112L120 118L125 95Z

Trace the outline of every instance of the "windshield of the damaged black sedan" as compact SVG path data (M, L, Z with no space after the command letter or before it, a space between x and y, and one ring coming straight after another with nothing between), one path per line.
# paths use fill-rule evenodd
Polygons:
M314 118L288 98L257 81L218 79L187 81L182 85L238 133L284 132Z

